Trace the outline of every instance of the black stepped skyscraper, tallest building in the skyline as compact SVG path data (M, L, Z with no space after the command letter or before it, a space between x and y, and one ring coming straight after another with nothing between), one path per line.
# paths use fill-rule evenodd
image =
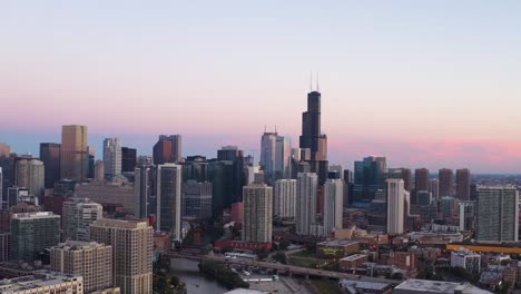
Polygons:
M301 160L308 161L311 171L318 175L320 184L327 178L327 136L321 130L321 94L307 94L307 111L302 114L302 136L299 147L304 155Z

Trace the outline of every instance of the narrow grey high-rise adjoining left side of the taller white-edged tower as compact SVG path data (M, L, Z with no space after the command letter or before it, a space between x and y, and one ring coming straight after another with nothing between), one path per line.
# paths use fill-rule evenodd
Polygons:
M155 168L151 165L140 165L134 169L134 216L147 218L157 207L151 204L155 192Z

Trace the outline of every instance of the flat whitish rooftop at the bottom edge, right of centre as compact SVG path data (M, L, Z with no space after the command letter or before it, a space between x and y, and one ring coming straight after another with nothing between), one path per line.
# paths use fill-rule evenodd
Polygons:
M415 280L409 278L402 284L397 285L394 288L393 293L402 293L403 291L409 291L406 293L429 293L429 294L445 294L445 293L460 293L460 294L490 294L491 292L481 290L471 284L460 284L452 282L439 282L439 281L427 281L427 280ZM414 291L414 292L412 292Z

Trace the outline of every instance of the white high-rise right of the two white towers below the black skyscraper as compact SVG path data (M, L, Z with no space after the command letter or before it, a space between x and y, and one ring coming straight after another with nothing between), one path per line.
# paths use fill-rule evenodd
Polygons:
M342 228L344 209L344 182L327 179L324 184L324 231L330 234Z

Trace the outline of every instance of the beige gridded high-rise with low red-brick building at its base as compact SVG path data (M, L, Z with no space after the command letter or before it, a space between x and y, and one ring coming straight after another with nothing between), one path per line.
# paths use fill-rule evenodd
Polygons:
M252 184L243 188L243 241L272 242L273 188L266 184Z

